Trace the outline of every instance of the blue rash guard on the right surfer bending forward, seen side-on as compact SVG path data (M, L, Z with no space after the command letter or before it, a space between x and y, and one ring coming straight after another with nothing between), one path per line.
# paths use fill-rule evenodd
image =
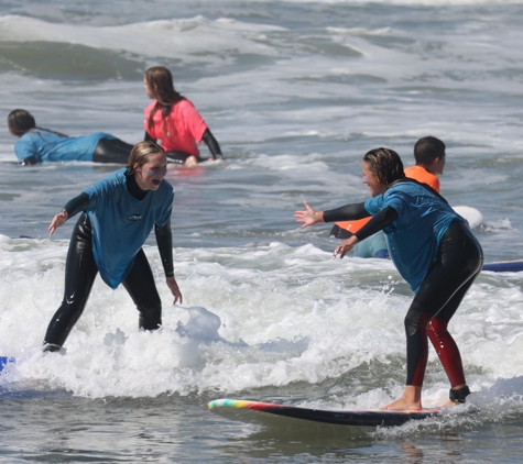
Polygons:
M371 216L386 207L397 213L397 218L383 229L389 253L399 273L417 292L436 259L442 236L453 221L464 219L416 183L397 183L364 203Z

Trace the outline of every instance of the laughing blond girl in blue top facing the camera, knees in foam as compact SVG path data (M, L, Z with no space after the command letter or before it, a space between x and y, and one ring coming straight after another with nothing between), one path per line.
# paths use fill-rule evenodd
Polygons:
M53 218L50 235L84 211L73 230L65 268L62 306L44 338L44 351L62 347L81 316L98 273L111 288L123 284L139 310L139 327L162 324L160 300L151 267L142 250L154 228L156 243L174 302L182 294L174 278L171 210L173 188L164 180L167 157L153 142L140 142L127 168L117 170L73 198Z

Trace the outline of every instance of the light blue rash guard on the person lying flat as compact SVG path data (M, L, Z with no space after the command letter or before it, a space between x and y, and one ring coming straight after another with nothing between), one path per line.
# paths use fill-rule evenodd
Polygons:
M79 137L64 137L44 129L33 129L23 134L14 145L14 153L23 162L34 156L42 162L91 162L96 145L101 139L115 139L105 132Z

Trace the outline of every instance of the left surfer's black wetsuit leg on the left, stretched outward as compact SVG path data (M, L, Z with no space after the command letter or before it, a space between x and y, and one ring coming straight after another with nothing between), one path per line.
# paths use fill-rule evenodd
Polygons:
M64 299L51 319L44 344L62 346L84 311L98 274L91 236L89 218L81 214L73 230L67 252Z

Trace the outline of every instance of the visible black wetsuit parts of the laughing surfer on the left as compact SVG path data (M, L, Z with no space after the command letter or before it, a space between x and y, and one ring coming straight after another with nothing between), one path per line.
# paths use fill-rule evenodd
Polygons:
M148 192L140 189L134 176L127 175L126 178L129 192L138 200L143 199ZM88 206L89 196L80 194L65 206L65 210L70 218ZM171 221L162 228L155 225L154 231L165 276L172 277L174 269ZM64 344L84 311L97 274L91 223L88 216L83 213L73 230L67 252L64 299L45 333L44 344L47 351L56 351ZM157 329L162 324L162 301L142 248L138 252L132 269L122 284L140 312L139 327L145 330Z

